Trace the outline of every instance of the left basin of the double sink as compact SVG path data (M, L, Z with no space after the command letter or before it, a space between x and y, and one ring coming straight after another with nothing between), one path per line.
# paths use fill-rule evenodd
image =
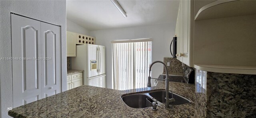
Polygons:
M149 107L146 98L150 98L145 94L131 94L122 97L124 103L132 108L146 108ZM151 100L151 99L150 99ZM152 106L152 103L151 103Z

